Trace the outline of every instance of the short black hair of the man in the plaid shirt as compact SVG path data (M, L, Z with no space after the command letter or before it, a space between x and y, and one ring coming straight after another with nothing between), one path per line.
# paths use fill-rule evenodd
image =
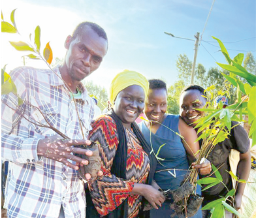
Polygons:
M97 23L93 23L93 22L79 23L76 26L76 28L74 29L74 31L72 33L72 37L74 37L74 39L76 39L76 37L81 34L82 30L86 26L91 27L91 29L93 29L93 31L95 31L95 33L97 33L97 35L99 37L102 37L104 40L106 40L106 42L108 42L108 37L106 36L106 32L104 31L103 27L101 27Z

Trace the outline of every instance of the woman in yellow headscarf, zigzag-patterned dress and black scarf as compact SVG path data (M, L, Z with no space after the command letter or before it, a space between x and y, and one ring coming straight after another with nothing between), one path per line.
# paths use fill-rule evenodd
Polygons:
M97 142L103 178L89 185L88 217L147 217L146 198L154 208L165 197L153 188L156 160L135 119L144 109L148 80L135 71L124 70L110 86L112 110L97 117L89 134Z

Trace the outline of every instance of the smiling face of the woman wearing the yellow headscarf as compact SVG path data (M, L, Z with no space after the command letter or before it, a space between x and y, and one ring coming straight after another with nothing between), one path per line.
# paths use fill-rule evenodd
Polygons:
M114 112L121 119L124 127L131 128L131 123L144 109L144 101L144 90L137 85L126 87L118 93L114 102Z

